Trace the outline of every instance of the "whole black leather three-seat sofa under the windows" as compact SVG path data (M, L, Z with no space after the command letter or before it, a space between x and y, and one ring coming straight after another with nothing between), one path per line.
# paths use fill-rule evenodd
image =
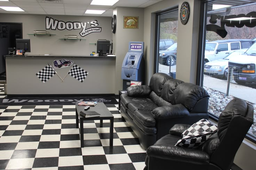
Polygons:
M121 95L121 116L138 136L144 149L169 133L175 124L208 119L209 95L192 83L155 73L149 86L132 86Z

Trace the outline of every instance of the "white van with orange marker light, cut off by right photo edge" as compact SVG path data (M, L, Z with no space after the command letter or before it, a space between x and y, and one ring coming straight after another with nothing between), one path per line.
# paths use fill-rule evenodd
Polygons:
M243 55L232 57L229 67L233 67L234 81L238 84L256 82L256 43Z

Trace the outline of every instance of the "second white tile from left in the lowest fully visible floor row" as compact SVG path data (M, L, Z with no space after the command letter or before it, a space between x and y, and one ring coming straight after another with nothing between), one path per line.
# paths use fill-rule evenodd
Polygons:
M79 166L83 165L82 156L61 156L59 157L59 167L68 167L68 166Z

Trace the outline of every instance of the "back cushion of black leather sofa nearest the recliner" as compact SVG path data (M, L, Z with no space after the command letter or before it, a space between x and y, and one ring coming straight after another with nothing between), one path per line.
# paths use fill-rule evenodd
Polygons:
M195 104L203 97L209 97L204 88L185 82L177 86L171 96L170 102L172 105L182 104L191 111Z

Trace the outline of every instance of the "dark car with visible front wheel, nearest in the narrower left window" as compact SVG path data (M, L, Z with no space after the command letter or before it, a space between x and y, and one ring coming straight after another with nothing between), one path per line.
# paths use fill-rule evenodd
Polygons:
M159 53L159 63L166 65L175 65L177 57L177 43L171 45L167 50Z

